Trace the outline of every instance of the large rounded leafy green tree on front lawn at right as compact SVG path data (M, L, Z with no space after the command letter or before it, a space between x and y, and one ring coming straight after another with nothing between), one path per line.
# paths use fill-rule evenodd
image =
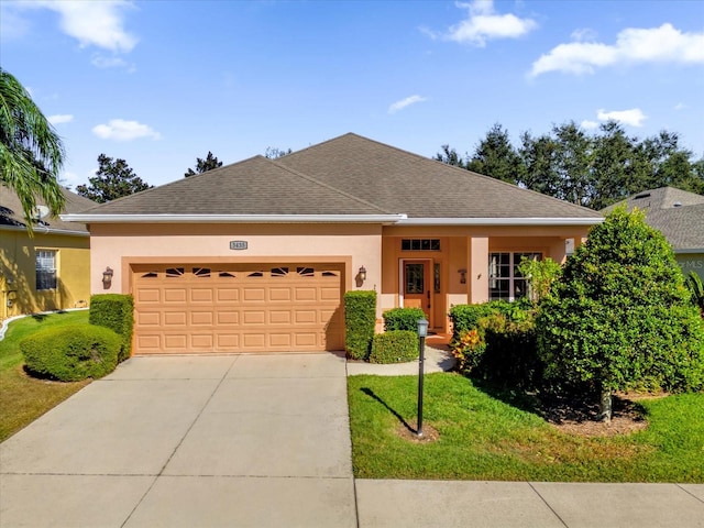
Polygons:
M592 384L608 409L612 391L704 384L704 323L642 211L617 208L592 229L540 302L536 332L546 375Z

